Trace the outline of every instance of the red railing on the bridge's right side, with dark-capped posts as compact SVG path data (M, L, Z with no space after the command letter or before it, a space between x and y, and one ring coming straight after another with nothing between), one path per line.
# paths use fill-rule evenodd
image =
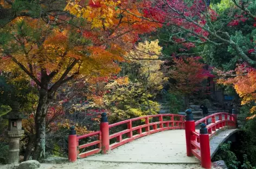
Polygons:
M193 114L188 109L185 116L185 137L187 156L195 155L201 161L203 168L211 168L210 138L220 129L236 128L236 114L221 112L208 115L198 121L194 121ZM210 123L209 123L210 122ZM201 124L200 132L196 132L195 126Z

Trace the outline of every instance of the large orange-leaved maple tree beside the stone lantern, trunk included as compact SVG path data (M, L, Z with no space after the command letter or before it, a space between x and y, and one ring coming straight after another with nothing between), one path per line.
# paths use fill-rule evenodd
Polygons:
M52 5L49 5L53 3ZM59 88L76 79L117 74L118 63L138 35L158 23L127 12L139 13L131 1L24 2L1 1L1 70L17 71L39 92L35 112L33 159L45 152L46 117ZM1 13L2 14L2 13ZM124 48L126 47L126 48Z

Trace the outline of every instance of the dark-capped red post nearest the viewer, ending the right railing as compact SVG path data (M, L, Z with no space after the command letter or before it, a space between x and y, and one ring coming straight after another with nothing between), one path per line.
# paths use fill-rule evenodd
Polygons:
M203 168L211 168L212 162L210 161L210 140L207 132L206 124L201 124L200 129L200 152L201 152L201 166Z

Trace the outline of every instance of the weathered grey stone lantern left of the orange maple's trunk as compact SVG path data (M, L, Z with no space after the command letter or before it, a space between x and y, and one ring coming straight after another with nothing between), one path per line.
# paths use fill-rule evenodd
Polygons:
M20 138L24 134L22 129L22 119L27 119L27 116L18 112L20 105L18 102L12 103L12 110L4 115L4 119L9 120L7 136L9 138L8 164L18 163L18 153L20 152Z

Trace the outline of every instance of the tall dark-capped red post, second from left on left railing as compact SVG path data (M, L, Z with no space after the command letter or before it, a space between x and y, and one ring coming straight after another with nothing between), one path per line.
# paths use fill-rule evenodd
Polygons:
M107 151L110 150L110 130L108 128L106 113L101 113L100 131L101 131L101 153L106 154Z

